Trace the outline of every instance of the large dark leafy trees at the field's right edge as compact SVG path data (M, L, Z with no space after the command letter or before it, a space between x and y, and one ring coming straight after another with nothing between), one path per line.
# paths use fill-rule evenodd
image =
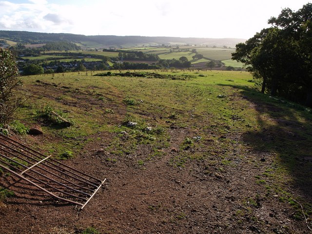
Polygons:
M283 9L270 28L238 43L232 59L243 62L269 92L312 107L312 3Z

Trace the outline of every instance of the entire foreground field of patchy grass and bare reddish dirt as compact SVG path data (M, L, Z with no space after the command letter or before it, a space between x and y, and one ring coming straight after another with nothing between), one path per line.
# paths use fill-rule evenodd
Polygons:
M19 137L108 182L79 211L2 175L16 194L2 233L309 233L310 109L259 93L247 72L110 72L22 77L15 118L44 134ZM72 126L40 117L46 106Z

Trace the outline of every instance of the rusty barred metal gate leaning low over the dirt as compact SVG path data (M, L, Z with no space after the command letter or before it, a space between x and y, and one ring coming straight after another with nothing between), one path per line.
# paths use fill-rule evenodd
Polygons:
M0 168L83 209L105 183L0 134Z

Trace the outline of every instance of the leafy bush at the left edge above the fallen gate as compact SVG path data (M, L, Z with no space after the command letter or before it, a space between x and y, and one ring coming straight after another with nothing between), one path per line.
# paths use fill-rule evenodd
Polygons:
M14 88L20 85L18 76L14 56L0 48L0 124L8 123L20 103L20 98L14 94Z

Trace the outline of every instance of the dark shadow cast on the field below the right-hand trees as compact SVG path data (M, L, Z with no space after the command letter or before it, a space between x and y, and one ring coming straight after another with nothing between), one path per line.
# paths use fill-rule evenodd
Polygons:
M275 156L273 170L291 177L282 181L282 176L281 181L311 201L312 113L299 104L270 98L247 86L219 85L241 90L241 100L247 100L249 108L256 111L257 128L250 126L242 140L256 152Z

